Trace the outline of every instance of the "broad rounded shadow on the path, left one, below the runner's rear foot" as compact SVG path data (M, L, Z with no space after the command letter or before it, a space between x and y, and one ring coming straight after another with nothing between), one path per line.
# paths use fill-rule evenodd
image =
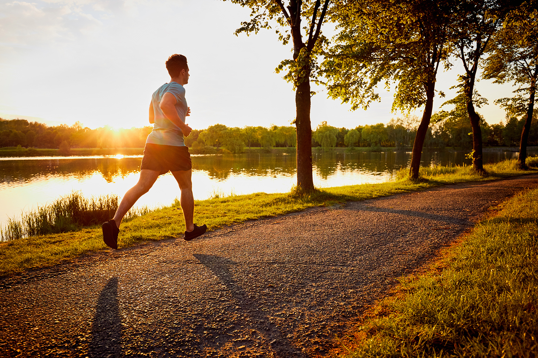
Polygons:
M118 278L112 277L97 299L91 326L90 357L119 357L122 352L122 319L119 315Z

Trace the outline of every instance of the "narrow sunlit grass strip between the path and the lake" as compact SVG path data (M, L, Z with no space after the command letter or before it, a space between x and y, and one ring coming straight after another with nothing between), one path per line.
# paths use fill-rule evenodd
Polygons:
M533 160L538 162L538 157ZM532 163L534 162L529 162ZM402 170L394 181L323 188L311 195L254 193L196 201L194 221L199 224L206 223L209 230L215 230L245 220L282 215L317 206L377 198L443 184L493 180L538 172L518 170L514 160L487 165L486 170L489 176L482 177L468 166L422 168L420 181L407 180L405 178L407 171ZM179 202L176 201L170 207L124 220L118 246L128 247L147 240L179 237L183 231L185 225L182 211ZM101 250L107 250L107 247L102 242L101 228L98 225L74 232L51 233L13 240L0 244L0 274L52 265L84 253Z

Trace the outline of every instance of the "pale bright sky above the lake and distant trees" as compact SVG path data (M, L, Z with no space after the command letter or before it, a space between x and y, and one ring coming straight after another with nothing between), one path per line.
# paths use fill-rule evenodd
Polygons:
M221 0L2 2L0 117L90 128L148 125L151 94L169 81L165 61L179 53L189 63L190 127L288 126L295 94L274 69L292 56L291 44L281 45L273 30L236 36L249 14ZM436 89L447 97L436 97L434 112L454 97L449 87L462 72L455 62L438 74ZM504 120L493 101L512 97L512 85L483 80L476 88L489 99L477 111L490 124ZM322 121L355 128L402 115L391 112L393 94L384 90L380 103L354 112L323 88L313 90L313 128ZM421 116L420 108L414 113Z

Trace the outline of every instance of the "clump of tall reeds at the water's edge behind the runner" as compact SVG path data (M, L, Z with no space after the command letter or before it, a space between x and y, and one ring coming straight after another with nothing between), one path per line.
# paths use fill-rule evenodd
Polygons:
M0 240L79 230L109 220L117 208L117 195L85 198L81 192L72 192L51 204L23 212L20 220L9 218L5 228L0 228Z

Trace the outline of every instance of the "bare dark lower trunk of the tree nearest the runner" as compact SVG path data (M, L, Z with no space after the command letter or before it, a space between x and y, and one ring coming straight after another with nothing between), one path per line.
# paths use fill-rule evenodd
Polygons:
M307 72L308 73L308 72ZM295 91L297 116L297 186L303 191L314 190L312 179L312 126L310 125L310 78L305 78Z

